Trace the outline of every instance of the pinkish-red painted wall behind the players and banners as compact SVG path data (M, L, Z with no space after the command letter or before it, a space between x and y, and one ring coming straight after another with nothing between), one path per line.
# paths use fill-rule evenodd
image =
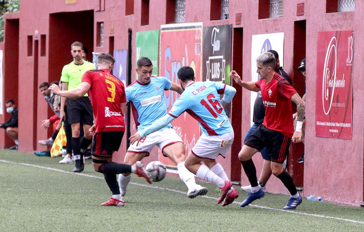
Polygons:
M132 29L132 80L135 80L135 33L138 31L158 30L161 24L166 24L167 11L166 1L150 0L149 7L149 24L141 25L141 2L134 1L134 13L125 15L125 1L120 0L77 0L76 4L65 4L66 1L47 1L32 0L21 1L20 11L5 15L5 39L4 39L4 81L3 81L3 99L16 99L19 106L19 151L33 152L35 149L43 149L37 144L40 139L47 138L51 131L41 130L41 120L48 118L52 112L48 109L48 105L44 101L43 96L39 93L37 86L43 82L51 82L59 80L60 71L64 64L71 61L70 50L67 48L70 40L83 38L77 37L75 31L76 25L80 28L86 27L87 22L79 23L82 17L93 20L93 33L84 34L84 40L92 40L92 44L88 45L88 59L91 59L90 53L108 52L109 36L114 36L114 49L128 48L128 28ZM360 46L360 39L355 40L354 46L354 71L353 71L353 139L335 139L320 138L315 136L315 102L316 102L316 54L317 54L317 33L319 31L339 31L354 30L355 38L363 38L363 27L361 16L364 13L364 3L357 1L355 11L326 13L326 1L304 1L304 0L285 0L283 17L273 19L258 19L260 11L266 8L265 1L233 1L230 0L229 19L227 20L210 20L210 2L209 0L186 1L186 18L185 22L203 22L203 26L213 26L222 24L232 24L233 31L235 28L243 28L242 45L237 44L234 40L232 43L232 60L233 64L242 67L242 78L250 80L251 78L251 46L252 35L268 34L275 32L284 32L284 70L296 83L295 87L302 91L301 74L296 71L299 64L296 55L300 46L305 47L307 58L307 79L306 79L306 143L305 143L305 162L303 175L304 195L316 194L324 196L328 201L359 205L363 201L363 104L364 95L361 81L361 71L363 70L363 48ZM259 4L259 2L261 4ZM305 3L303 16L297 16L297 4ZM100 5L101 3L101 5ZM203 11L201 10L203 6ZM41 9L41 10L39 10ZM268 9L266 9L268 11ZM86 13L82 14L79 12ZM65 15L63 13L74 12L71 16L74 23L70 23L73 29L67 31L67 25L62 30L66 30L66 34L56 33L59 28L52 26L60 25ZM242 13L241 24L237 25L235 20L236 13ZM59 17L58 17L59 16ZM57 21L57 17L58 20ZM63 18L62 18L63 17ZM19 52L15 52L16 43L14 38L16 34L16 20L18 20L19 30ZM299 38L295 38L295 22L305 20L305 38L306 44L299 46ZM72 20L71 20L72 21ZM104 45L97 47L96 44L96 25L97 22L104 22ZM56 22L56 23L54 23ZM57 23L58 22L58 23ZM109 29L110 24L114 25L113 33ZM87 27L90 27L87 24ZM14 34L15 32L15 34ZM86 33L86 32L85 32ZM87 32L88 33L88 32ZM41 52L41 35L46 36L45 54ZM91 35L91 38L89 38ZM29 48L29 36L31 46ZM16 40L16 39L15 39ZM38 41L38 55L35 44ZM88 42L89 43L89 42ZM0 44L1 47L1 44ZM60 49L59 47L62 47ZM92 49L90 49L90 47ZM234 54L238 48L242 47L242 59L234 61ZM29 53L30 49L30 53ZM63 51L64 50L64 51ZM300 51L302 53L302 51ZM296 55L296 56L295 56ZM36 58L37 57L37 62ZM8 63L7 63L8 60ZM12 64L17 60L19 62L19 75L13 75L16 67ZM36 65L35 65L36 64ZM234 67L232 67L234 69ZM242 115L234 115L241 117L241 132L237 134L238 140L244 139L245 133L250 127L250 93L243 90L241 92L242 101L240 105L232 106L241 107ZM5 111L5 108L3 109ZM6 113L5 113L6 114ZM8 115L0 115L0 119L5 119ZM236 124L233 126L237 126ZM131 128L134 128L132 122ZM135 132L132 129L131 134ZM9 141L5 139L5 133L0 131L0 147L9 146ZM237 140L237 139L236 139ZM126 136L123 138L122 147L115 156L115 161L123 161L123 153L126 150ZM145 162L155 160L157 157L157 149L154 149L151 156ZM230 157L230 154L228 154ZM288 161L288 169L295 174L294 164L297 157L291 157ZM232 166L239 166L237 154L233 154L232 159L223 160L218 158L227 171L227 175L231 176ZM254 156L254 162L257 166L257 173L260 173L262 159L259 154ZM241 171L242 185L248 184L244 170ZM298 175L298 173L296 173ZM288 193L281 182L274 176L268 181L267 188L273 193Z

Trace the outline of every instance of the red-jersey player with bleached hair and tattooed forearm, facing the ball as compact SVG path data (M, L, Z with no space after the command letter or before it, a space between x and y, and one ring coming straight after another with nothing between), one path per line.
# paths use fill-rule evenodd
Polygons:
M292 177L283 168L282 163L291 142L301 142L302 122L305 117L305 102L297 94L297 91L282 76L274 71L275 58L270 52L264 52L258 56L257 72L260 80L257 82L245 82L241 80L236 71L231 71L230 76L235 82L250 91L261 91L265 118L262 125L245 141L239 153L240 162L244 168L252 188L248 197L240 204L244 207L252 201L264 196L257 182L256 169L252 156L263 149L268 148L272 173L278 177L289 190L291 197L283 209L295 209L301 204L302 197L297 192ZM297 105L297 126L293 129L291 102Z

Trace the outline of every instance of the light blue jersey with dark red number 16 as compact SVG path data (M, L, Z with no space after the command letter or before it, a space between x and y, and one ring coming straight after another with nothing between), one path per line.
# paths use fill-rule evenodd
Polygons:
M174 102L168 114L177 118L187 112L198 121L203 134L223 135L233 130L220 101L225 91L223 83L205 81L191 82L181 97Z

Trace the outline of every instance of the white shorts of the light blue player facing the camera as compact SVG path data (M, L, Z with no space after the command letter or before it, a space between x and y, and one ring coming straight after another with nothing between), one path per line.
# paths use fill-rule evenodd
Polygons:
M135 142L134 144L130 144L127 152L147 153L146 156L149 156L154 146L157 145L158 148L161 149L163 156L166 156L163 153L163 149L168 145L178 142L183 143L181 137L178 136L178 134L174 129L168 128L164 130L155 131L154 133L151 133L150 135L144 137L139 142L138 146L137 142Z

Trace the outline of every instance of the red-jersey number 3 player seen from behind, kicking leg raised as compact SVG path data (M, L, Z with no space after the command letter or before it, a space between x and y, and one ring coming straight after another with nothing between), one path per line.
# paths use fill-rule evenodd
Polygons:
M136 173L151 183L142 162L134 165L112 162L112 154L119 150L125 131L125 90L123 83L110 72L114 68L115 59L108 53L98 56L98 70L90 70L83 74L78 88L60 91L56 84L50 89L53 93L67 98L78 98L88 93L95 115L95 124L90 128L95 134L92 146L92 165L96 172L104 174L112 197L101 205L125 205L120 195L116 174Z

